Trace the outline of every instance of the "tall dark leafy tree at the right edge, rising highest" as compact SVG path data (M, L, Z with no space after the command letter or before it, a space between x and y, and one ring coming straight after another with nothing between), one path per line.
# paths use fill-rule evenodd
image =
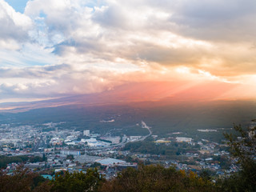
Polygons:
M256 120L246 129L234 125L235 134L224 134L230 154L237 160L240 170L223 181L222 186L232 191L256 191ZM228 186L230 189L228 189Z

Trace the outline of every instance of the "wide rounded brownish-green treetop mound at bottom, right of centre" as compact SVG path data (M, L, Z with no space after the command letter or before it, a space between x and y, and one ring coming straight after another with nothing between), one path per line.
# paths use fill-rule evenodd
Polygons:
M175 170L174 167L139 166L127 168L117 178L105 182L100 191L158 192L158 191L216 191L213 183L199 178L193 172Z

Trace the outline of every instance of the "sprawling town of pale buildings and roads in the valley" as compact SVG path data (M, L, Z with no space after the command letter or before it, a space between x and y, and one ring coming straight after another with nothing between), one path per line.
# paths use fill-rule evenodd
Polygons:
M59 171L86 171L90 167L97 167L100 174L110 179L127 167L136 168L139 163L174 166L178 170L198 173L208 170L216 177L226 177L238 171L225 143L180 137L180 132L159 138L143 121L137 126L148 130L144 136L116 136L115 130L99 134L90 133L90 130L60 129L65 123L48 122L37 126L2 124L2 171L12 174L18 166L24 166L50 179ZM154 151L154 147L158 150Z

